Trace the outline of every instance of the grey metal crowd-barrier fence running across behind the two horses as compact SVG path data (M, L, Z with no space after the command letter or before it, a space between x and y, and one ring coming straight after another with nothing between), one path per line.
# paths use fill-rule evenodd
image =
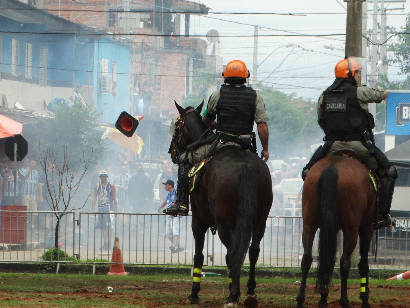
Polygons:
M45 258L45 254L50 255L49 248L55 246L56 223L55 212L51 211L0 211L0 262L50 262L50 256ZM257 266L300 267L302 229L301 217L269 217ZM399 228L389 237L381 236L378 259L369 257L370 267L410 269L407 234L406 229ZM66 254L57 251L51 254L51 260L59 263L111 262L115 237L119 238L124 264L193 264L195 246L191 216L172 219L162 214L67 212L59 222L57 239L57 246ZM317 241L318 236L313 245L315 261ZM374 245L375 240L369 255L374 253ZM203 254L206 265L226 265L226 249L217 234L213 236L209 231L205 234Z

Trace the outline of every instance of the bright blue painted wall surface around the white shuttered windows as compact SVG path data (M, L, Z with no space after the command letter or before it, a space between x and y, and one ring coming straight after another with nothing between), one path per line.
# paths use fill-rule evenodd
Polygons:
M10 32L44 31L46 25L23 24L0 16L0 30ZM69 29L68 29L69 30ZM52 32L52 30L48 29ZM115 122L123 110L128 110L130 87L130 47L112 39L73 34L0 33L2 37L1 71L9 78L27 83L38 83L40 48L47 48L47 79L51 87L94 87L94 106L102 112L102 121ZM11 76L11 39L19 41L18 75ZM32 79L25 78L25 44L32 44ZM112 63L117 63L117 95L100 93L101 60L108 60L108 74Z

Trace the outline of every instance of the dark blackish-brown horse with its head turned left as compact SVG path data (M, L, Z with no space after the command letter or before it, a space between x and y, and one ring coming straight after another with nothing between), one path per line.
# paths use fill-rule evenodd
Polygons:
M170 148L173 161L178 152L183 152L209 130L200 115L203 102L196 109L184 109L176 102L175 106L180 118ZM216 228L228 251L225 261L230 293L223 307L237 307L241 295L239 274L248 248L250 270L244 306L256 307L255 265L273 198L269 168L257 155L235 145L221 147L205 168L198 190L190 196L195 255L192 292L187 303L199 302L205 233L208 228Z

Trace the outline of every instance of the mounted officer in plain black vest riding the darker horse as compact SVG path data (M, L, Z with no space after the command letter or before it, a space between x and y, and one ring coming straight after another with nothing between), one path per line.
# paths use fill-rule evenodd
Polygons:
M203 113L203 123L216 128L216 140L185 151L178 157L178 200L165 209L165 214L187 216L189 211L188 171L192 165L212 156L223 145L237 145L256 153L253 124L256 122L258 136L262 144L261 158L269 158L269 130L266 122L265 106L260 93L246 87L246 78L250 73L244 62L233 60L226 65L222 73L225 84L211 94ZM215 122L217 118L218 122ZM221 170L223 172L223 170Z

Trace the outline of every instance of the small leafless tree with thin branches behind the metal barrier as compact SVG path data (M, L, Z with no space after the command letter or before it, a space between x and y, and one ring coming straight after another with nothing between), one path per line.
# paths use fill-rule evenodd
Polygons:
M93 150L89 147L88 153L82 150L82 156L76 158L78 165L70 165L70 152L67 146L63 146L61 151L53 151L47 147L45 151L40 151L40 165L44 172L47 193L46 201L50 209L54 211L57 218L55 226L54 247L58 248L60 221L68 213L77 209L82 209L87 203L90 195L84 203L73 204L73 197L80 186L81 180L90 165ZM44 188L43 188L44 189Z

